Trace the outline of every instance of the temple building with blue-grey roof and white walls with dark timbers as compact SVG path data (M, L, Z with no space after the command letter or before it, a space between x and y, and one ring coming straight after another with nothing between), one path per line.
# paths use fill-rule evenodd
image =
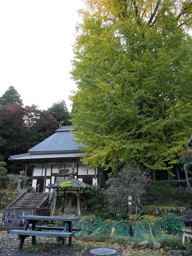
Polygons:
M48 184L68 179L67 173L71 168L76 180L105 186L106 174L97 167L87 170L81 162L84 153L78 149L72 130L72 126L60 125L53 135L29 149L28 153L9 157L10 161L26 165L25 175L32 167L31 185L35 188L40 184L39 192L48 192Z

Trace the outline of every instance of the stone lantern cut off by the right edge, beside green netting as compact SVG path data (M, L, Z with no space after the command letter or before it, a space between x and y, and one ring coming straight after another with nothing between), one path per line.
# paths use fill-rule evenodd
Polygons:
M184 227L182 228L183 237L182 243L183 244L191 244L192 243L192 211L188 209L186 215L177 217L175 220L183 221Z

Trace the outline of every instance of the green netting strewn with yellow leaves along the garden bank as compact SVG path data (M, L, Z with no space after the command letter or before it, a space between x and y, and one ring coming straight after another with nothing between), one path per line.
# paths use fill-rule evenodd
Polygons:
M89 235L96 239L118 237L118 239L127 241L163 240L172 235L182 234L183 223L176 221L176 216L172 213L166 213L155 222L138 220L131 223L127 221L104 221L87 216L76 222L75 227L81 227L82 231L76 233L75 236L79 239Z

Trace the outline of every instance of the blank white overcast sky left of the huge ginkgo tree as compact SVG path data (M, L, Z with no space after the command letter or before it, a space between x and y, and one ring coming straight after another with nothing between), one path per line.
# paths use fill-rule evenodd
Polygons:
M10 85L24 105L47 109L76 89L70 79L81 0L0 0L0 96Z

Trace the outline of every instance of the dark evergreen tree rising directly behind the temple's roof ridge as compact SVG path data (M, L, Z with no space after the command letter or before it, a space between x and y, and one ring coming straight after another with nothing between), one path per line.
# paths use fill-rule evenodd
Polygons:
M61 122L63 125L70 125L71 122L68 121L71 116L68 112L65 100L59 101L57 103L53 103L51 108L48 108L49 113L56 118L58 124Z

